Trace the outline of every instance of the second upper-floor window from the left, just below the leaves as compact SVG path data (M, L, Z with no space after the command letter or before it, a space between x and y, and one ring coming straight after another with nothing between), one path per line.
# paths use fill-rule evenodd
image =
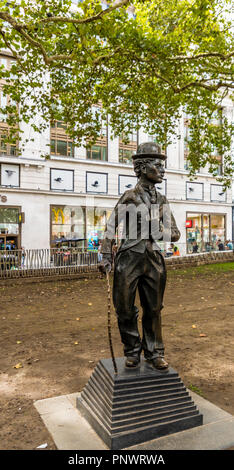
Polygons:
M67 125L62 121L55 121L50 126L50 153L61 157L74 157L72 139L66 134Z

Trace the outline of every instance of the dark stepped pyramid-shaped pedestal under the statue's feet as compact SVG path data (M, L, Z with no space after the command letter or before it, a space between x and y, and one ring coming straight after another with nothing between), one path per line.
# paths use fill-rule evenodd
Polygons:
M123 449L202 424L177 372L157 371L143 359L127 369L125 359L99 361L77 399L77 408L110 449Z

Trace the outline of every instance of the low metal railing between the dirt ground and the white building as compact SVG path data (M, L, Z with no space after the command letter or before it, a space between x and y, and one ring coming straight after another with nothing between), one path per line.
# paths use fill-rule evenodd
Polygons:
M234 243L233 243L234 246ZM201 256L209 253L227 252L233 250L188 251L188 244L175 243L161 244L161 253L165 259L188 258L192 255ZM175 250L177 248L177 250ZM216 248L216 249L215 249ZM224 245L225 248L225 245ZM48 248L29 250L1 250L0 251L0 279L33 276L51 276L54 274L76 274L97 271L100 262L97 251L83 248Z

